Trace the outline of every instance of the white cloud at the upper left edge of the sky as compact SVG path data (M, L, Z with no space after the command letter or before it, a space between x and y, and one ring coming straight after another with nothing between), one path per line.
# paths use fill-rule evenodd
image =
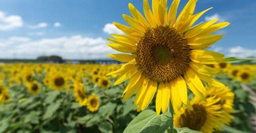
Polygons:
M0 31L12 30L22 26L22 17L18 15L6 15L6 13L0 11Z

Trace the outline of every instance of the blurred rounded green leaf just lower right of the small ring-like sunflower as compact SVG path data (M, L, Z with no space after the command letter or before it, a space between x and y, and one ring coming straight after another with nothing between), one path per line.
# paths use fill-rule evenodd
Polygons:
M100 107L98 113L102 117L108 118L110 115L114 113L115 108L116 108L116 103L109 102L103 105L102 107Z

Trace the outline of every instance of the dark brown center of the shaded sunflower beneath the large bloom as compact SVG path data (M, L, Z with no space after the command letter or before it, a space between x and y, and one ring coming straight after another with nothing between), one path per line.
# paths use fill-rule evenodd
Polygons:
M202 105L192 105L194 111L188 109L181 115L181 127L188 127L193 130L200 130L207 119L207 112Z

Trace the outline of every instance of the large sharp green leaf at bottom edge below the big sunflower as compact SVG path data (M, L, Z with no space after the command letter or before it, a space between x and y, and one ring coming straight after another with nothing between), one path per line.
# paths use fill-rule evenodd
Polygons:
M172 114L157 115L152 110L141 112L124 129L125 132L164 132L172 123Z

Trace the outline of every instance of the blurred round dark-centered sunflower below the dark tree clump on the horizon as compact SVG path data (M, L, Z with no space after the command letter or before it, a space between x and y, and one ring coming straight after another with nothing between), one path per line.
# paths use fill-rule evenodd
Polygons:
M52 89L55 89L55 90L67 89L68 81L65 78L64 74L57 73L57 74L51 75L49 85Z

